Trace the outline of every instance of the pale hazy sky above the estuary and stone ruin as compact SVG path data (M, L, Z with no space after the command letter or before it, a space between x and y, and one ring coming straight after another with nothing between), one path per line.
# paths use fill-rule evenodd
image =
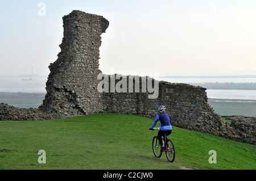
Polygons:
M45 14L41 11L46 5ZM103 73L256 74L255 0L1 1L0 75L49 74L72 10L102 15Z

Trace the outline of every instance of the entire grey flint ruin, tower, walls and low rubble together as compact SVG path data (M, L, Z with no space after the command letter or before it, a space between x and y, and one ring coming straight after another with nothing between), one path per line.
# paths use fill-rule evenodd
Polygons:
M109 22L102 16L74 10L63 17L64 37L60 45L61 52L53 64L49 65L50 74L46 83L47 94L38 110L23 111L34 116L24 116L14 107L1 104L0 120L33 120L54 117L72 117L89 115L97 112L134 113L155 119L159 105L166 106L171 124L185 129L211 133L241 142L255 144L255 119L234 118L226 123L207 102L206 89L183 83L156 81L158 98L148 99L152 92L142 91L142 79L134 76L133 92L99 92L97 87L102 79L98 69L101 34L108 28ZM114 75L105 75L110 77ZM116 75L115 75L116 76ZM135 92L136 80L139 79L139 91ZM118 85L119 79L115 79ZM129 79L122 80L129 85ZM152 87L155 87L154 79ZM120 85L119 85L120 86ZM124 85L122 85L124 86ZM123 88L123 87L122 87ZM10 117L8 110L16 110L15 117ZM40 114L36 118L36 113ZM9 113L9 115L8 115ZM45 116L45 118L44 118ZM151 125L149 123L148 125Z

